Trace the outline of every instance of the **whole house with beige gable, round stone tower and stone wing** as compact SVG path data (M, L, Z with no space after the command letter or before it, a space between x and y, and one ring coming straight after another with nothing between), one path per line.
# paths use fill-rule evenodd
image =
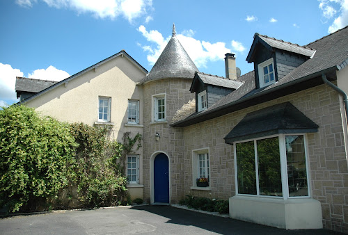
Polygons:
M221 77L199 72L173 29L149 73L120 51L22 103L111 124L117 140L141 133L127 158L133 198L229 199L231 218L348 232L347 36L345 27L299 46L255 33L254 70L240 76L226 54Z

